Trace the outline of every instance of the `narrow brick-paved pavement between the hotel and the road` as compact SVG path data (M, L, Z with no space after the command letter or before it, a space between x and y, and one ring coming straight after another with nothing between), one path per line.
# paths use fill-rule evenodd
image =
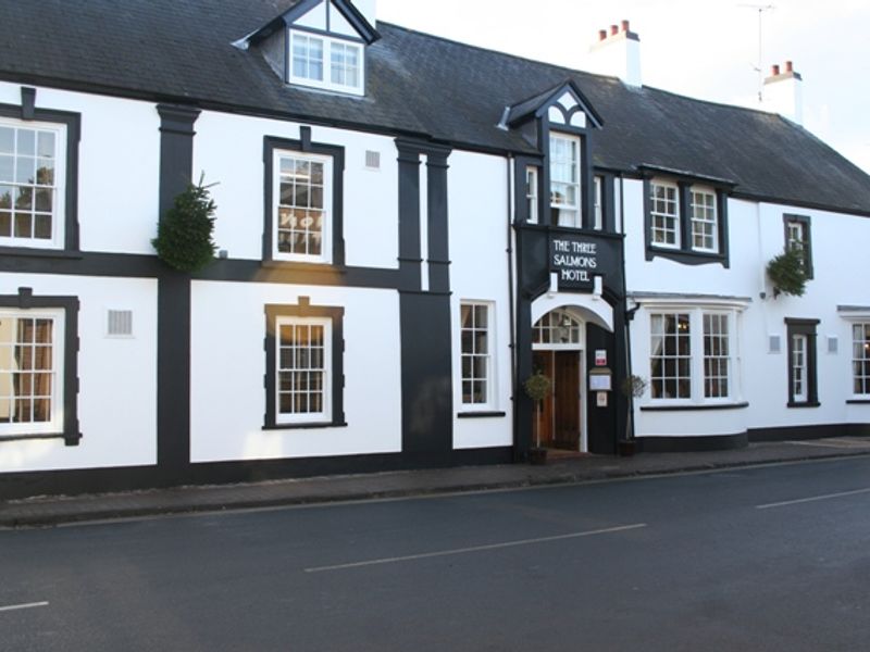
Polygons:
M35 497L0 501L0 528L520 489L854 455L870 455L870 437L759 442L730 451L558 457L539 466L463 466L122 493Z

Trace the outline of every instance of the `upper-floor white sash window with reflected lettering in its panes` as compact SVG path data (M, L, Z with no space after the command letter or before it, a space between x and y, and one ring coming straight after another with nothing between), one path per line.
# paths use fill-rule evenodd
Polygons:
M331 262L333 159L273 153L275 260Z

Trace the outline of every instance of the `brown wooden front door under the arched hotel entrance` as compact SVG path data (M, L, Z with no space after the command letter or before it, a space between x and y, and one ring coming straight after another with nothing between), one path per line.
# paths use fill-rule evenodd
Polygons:
M537 408L533 446L580 450L580 352L535 351L534 368L552 380Z

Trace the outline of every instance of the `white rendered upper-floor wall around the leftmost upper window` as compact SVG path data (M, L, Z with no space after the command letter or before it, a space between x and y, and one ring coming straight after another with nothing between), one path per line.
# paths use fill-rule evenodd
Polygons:
M0 103L21 104L21 85L0 82ZM37 87L36 108L82 114L82 250L152 254L160 173L156 104Z

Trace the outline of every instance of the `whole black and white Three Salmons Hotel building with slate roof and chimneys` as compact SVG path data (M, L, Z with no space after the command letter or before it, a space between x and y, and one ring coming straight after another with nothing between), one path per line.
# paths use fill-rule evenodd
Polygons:
M591 74L374 0L2 4L2 498L522 461L535 368L548 446L614 452L630 373L641 450L870 434L870 178L791 65L774 113L644 87L627 24Z

